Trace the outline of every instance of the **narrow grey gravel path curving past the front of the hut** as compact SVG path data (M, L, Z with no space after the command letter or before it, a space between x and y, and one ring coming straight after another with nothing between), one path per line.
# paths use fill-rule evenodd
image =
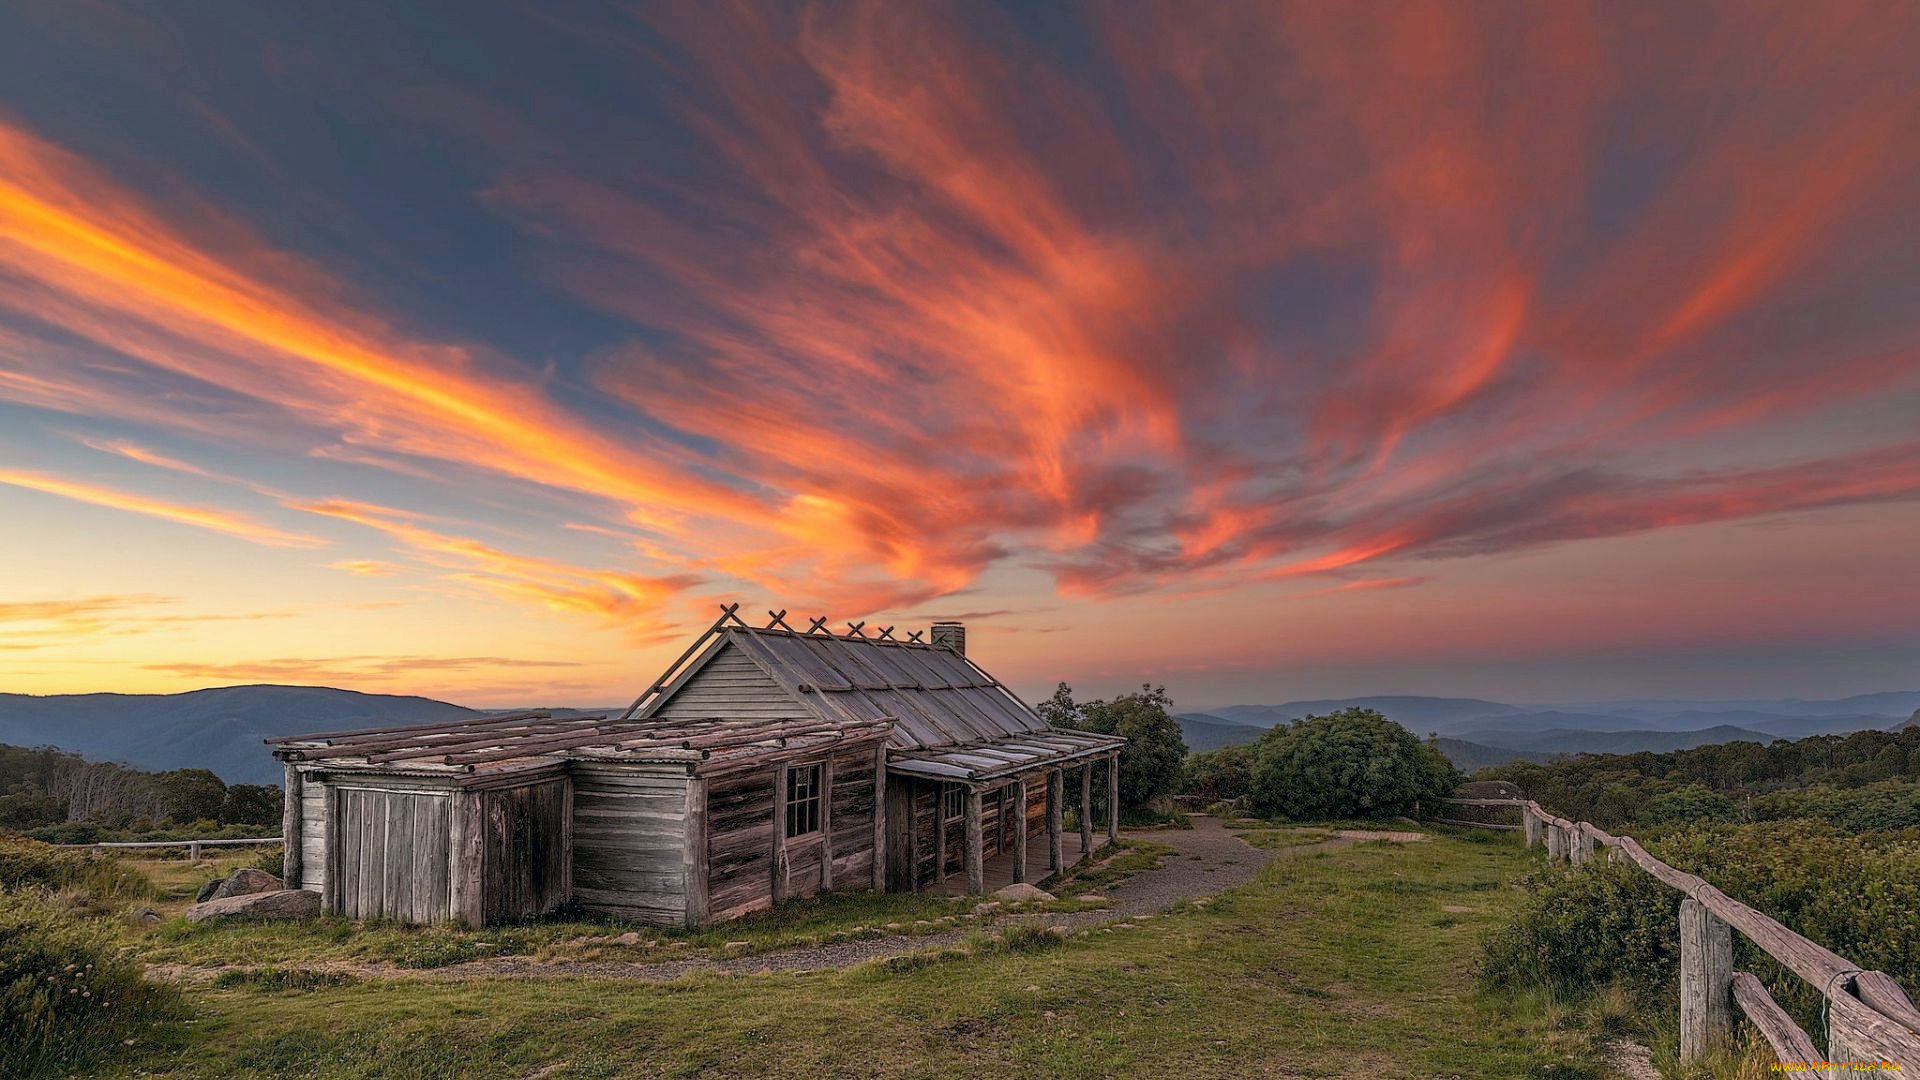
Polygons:
M1004 915L996 924L1039 922L1044 926L1064 926L1068 930L1089 930L1114 926L1140 919L1152 919L1185 899L1219 896L1231 888L1254 880L1260 871L1275 861L1298 857L1308 851L1329 851L1346 847L1369 836L1334 836L1319 844L1300 847L1254 847L1240 836L1225 828L1217 819L1194 817L1190 830L1127 832L1129 840L1165 844L1173 853L1162 861L1158 871L1142 871L1131 878L1102 890L1112 903L1094 911L1073 913L1031 913ZM1425 840L1409 834L1409 838ZM532 957L490 957L447 965L442 969L403 969L396 965L311 965L313 970L340 970L367 978L424 978L424 980L467 980L467 978L636 978L645 982L670 982L674 978L701 974L760 974L789 970L826 970L852 967L866 961L918 953L958 945L975 934L975 926L960 926L941 934L862 938L831 945L808 945L774 949L747 957L685 957L662 961L536 961ZM190 969L175 965L156 965L150 972L157 978L194 982L213 978L209 969Z

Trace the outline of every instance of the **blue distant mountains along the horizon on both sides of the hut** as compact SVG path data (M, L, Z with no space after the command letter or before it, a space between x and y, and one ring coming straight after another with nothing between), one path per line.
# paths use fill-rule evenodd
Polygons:
M1379 709L1419 736L1438 734L1461 769L1544 761L1555 753L1634 753L1715 742L1772 742L1860 728L1897 728L1920 709L1920 692L1832 701L1584 701L1509 705L1478 698L1336 698L1283 705L1227 705L1183 713L1190 749L1254 742L1275 724L1346 707ZM553 709L591 715L601 709ZM497 709L493 711L497 713ZM0 742L58 746L136 769L211 769L227 782L276 784L267 736L376 724L420 724L488 715L432 698L357 694L326 686L223 686L188 694L0 694Z

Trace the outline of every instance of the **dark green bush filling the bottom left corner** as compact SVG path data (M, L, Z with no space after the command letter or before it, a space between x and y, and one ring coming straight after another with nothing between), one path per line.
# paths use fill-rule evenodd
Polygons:
M102 930L27 894L0 897L0 1076L104 1061L179 1009Z

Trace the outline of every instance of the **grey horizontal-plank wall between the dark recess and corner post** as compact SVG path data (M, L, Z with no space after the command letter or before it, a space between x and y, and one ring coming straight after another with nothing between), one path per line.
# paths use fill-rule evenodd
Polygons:
M687 782L684 771L574 765L572 884L584 909L685 924Z

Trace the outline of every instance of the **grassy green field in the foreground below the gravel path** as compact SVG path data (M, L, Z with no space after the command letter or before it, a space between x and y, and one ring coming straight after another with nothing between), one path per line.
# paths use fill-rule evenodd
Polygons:
M776 976L190 988L109 1076L1601 1076L1582 1017L1473 992L1511 838L1357 844L1223 899L912 963Z

